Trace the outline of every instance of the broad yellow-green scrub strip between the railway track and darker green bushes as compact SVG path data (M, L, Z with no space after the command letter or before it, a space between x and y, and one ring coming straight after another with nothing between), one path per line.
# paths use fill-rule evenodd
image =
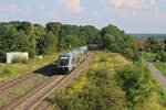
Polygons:
M120 57L114 53L96 52L82 78L59 94L53 103L61 110L122 110L125 95L116 85L112 69L128 62Z

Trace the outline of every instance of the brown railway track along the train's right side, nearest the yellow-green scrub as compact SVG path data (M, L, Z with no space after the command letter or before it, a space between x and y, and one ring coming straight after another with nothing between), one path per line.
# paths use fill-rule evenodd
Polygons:
M74 75L82 73L90 63L92 56L93 52L91 52L87 58L71 74L56 75L49 78L45 82L39 85L38 88L34 88L31 92L28 92L21 99L14 100L12 105L2 108L2 110L33 110L35 107L38 107L38 105L42 103L49 95L61 88L63 84L73 78Z

